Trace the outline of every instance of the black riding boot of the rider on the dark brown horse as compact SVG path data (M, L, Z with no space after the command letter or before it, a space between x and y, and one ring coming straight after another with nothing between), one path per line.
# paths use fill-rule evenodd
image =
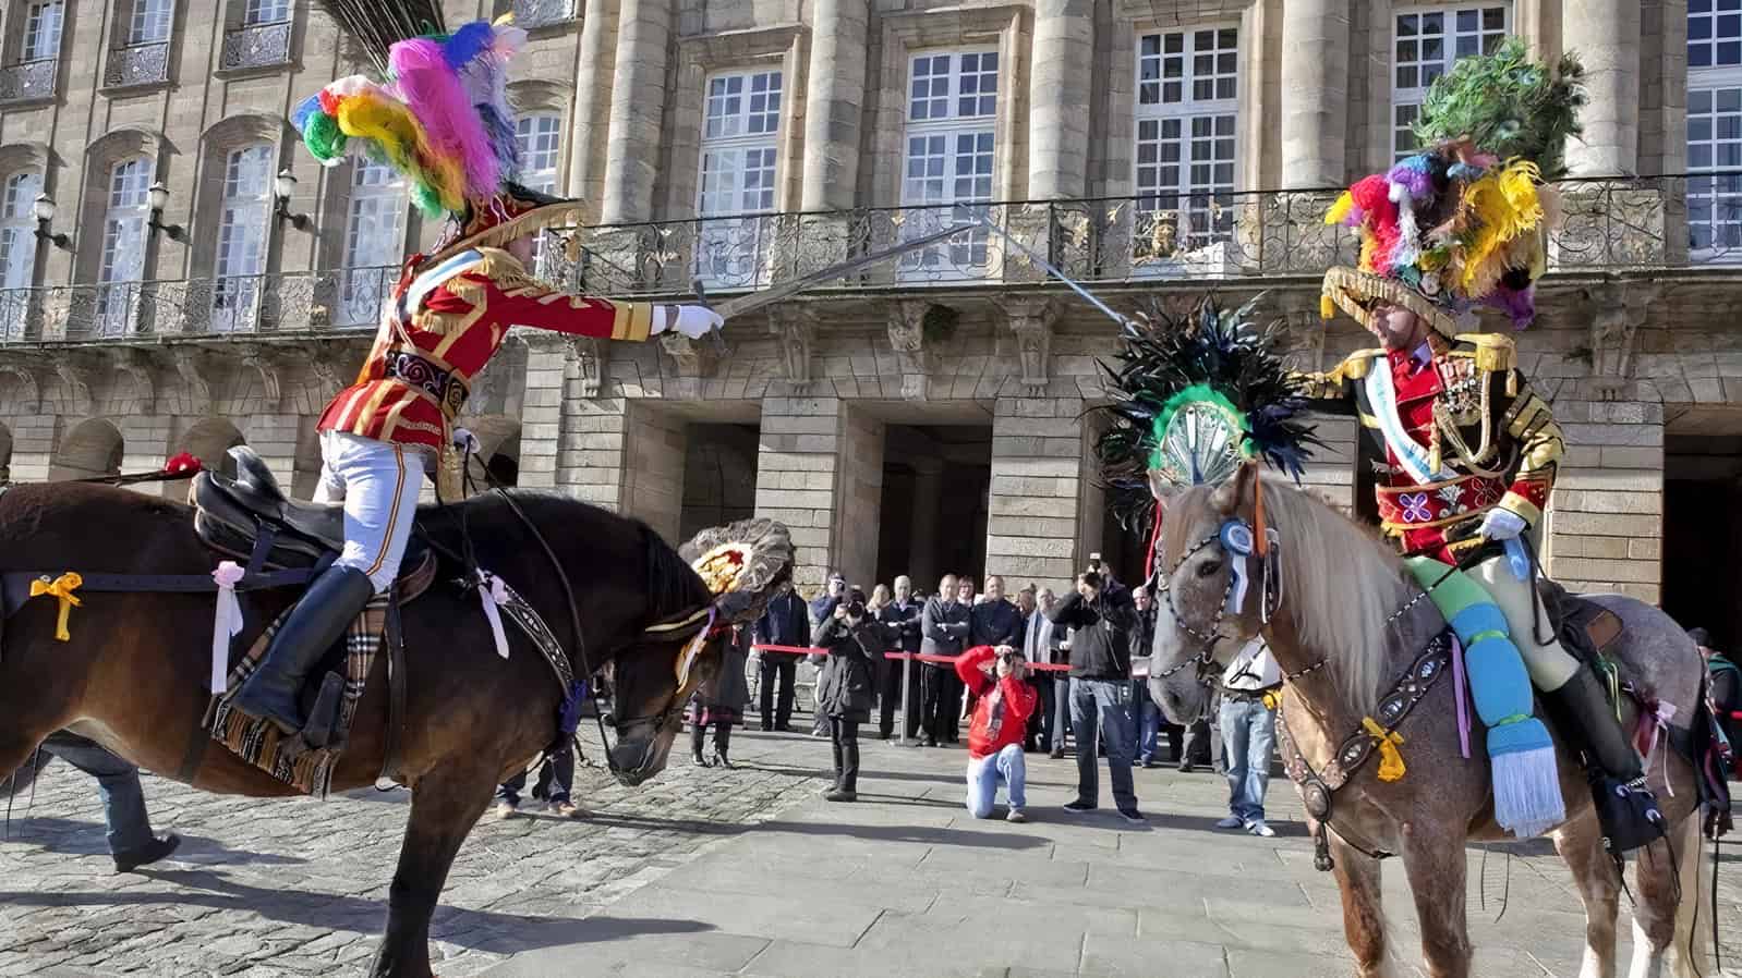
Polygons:
M233 707L249 717L272 720L286 734L301 733L307 720L296 696L308 672L357 620L375 585L354 567L327 567L272 637L254 675L235 694Z

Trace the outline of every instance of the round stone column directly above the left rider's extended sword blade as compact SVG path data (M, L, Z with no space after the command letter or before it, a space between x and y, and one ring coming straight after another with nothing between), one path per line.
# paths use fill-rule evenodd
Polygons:
M868 0L815 0L805 92L800 207L848 209L859 186L859 117L866 96Z

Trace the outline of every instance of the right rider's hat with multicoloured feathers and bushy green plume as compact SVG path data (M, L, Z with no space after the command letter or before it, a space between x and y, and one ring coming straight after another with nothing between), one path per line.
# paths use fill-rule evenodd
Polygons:
M1404 306L1444 334L1467 331L1474 306L1536 317L1533 282L1547 270L1566 139L1582 132L1583 68L1533 61L1519 38L1465 57L1434 80L1416 117L1423 151L1338 197L1327 224L1361 231L1361 266L1324 277L1324 318L1341 308L1367 325L1376 303Z

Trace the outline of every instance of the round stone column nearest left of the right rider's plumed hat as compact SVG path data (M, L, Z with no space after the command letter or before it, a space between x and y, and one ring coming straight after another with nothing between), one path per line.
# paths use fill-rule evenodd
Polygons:
M1348 176L1348 0L1282 2L1282 186Z

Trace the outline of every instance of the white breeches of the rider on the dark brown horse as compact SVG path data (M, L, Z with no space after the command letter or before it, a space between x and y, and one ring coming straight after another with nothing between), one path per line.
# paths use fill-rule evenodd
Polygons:
M317 503L345 503L345 550L334 564L369 576L375 593L399 576L423 487L423 452L348 432L321 433Z

